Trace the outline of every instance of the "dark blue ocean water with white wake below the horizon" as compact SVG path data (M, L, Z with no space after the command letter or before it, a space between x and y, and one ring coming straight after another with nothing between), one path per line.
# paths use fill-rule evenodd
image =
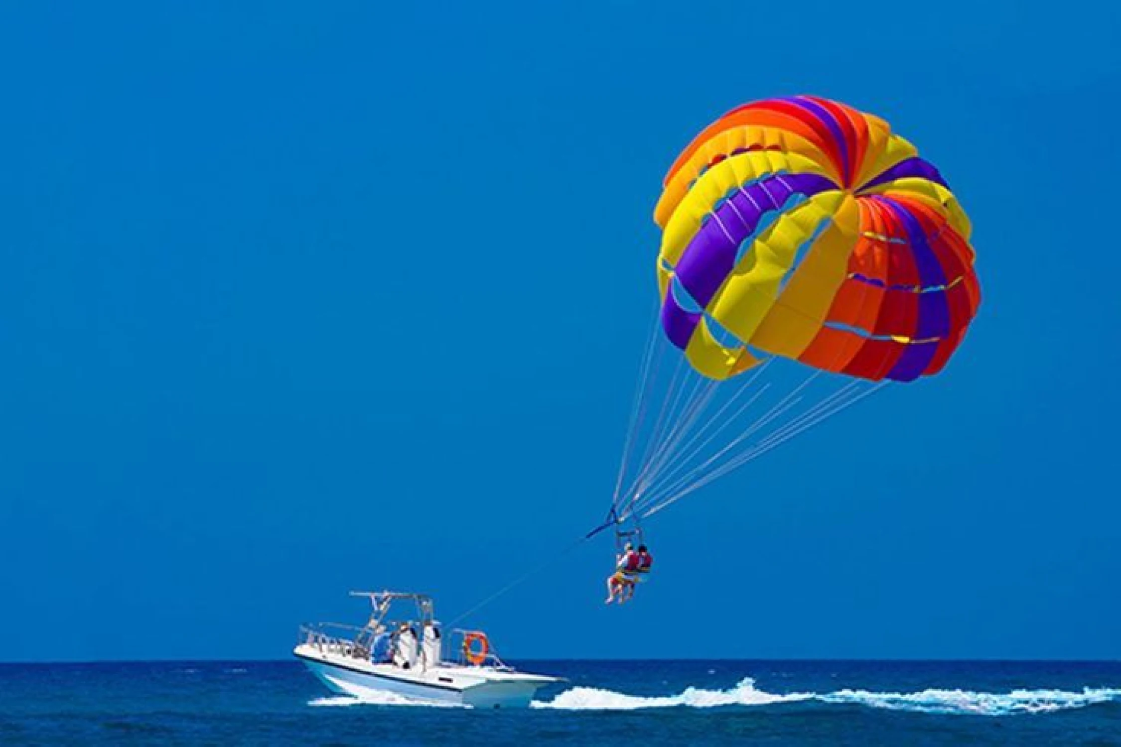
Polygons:
M1121 662L517 662L529 710L331 694L295 661L0 665L0 745L1121 745Z

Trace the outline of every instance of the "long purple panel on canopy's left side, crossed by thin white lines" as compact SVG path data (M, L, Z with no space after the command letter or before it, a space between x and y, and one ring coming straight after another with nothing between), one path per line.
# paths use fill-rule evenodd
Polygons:
M775 175L741 187L712 213L685 248L677 279L698 306L708 306L735 269L740 245L754 233L765 213L781 208L791 195L809 197L830 189L836 185L816 174Z

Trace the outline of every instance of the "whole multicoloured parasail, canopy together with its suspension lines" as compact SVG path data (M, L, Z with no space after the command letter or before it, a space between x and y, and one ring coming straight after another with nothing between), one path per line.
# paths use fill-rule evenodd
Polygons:
M617 532L890 381L938 373L981 301L970 222L938 170L825 99L716 120L669 169L655 220L660 310Z

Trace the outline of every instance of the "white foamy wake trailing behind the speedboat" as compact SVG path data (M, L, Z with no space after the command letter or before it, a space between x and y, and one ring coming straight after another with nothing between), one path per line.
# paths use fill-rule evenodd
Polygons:
M724 708L732 706L772 706L777 703L816 701L834 704L858 704L919 713L1013 716L1050 713L1095 703L1121 702L1121 689L1084 688L1066 690L1012 690L1006 693L970 690L923 690L920 692L871 692L839 690L831 693L766 692L747 678L728 690L687 688L676 695L628 695L596 688L572 688L548 702L534 701L532 708L556 710L630 711L650 708Z

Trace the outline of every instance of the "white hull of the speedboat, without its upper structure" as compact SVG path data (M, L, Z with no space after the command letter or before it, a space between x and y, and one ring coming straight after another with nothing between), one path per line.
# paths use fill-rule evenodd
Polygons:
M433 703L526 708L538 689L557 681L537 674L447 663L405 670L308 645L297 646L293 653L331 690L355 698L390 692L409 700Z

